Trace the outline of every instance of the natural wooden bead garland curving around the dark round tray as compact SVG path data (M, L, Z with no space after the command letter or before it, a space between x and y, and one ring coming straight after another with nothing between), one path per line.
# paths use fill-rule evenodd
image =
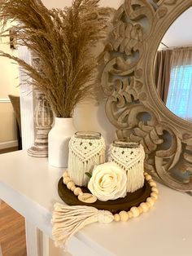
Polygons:
M131 209L128 212L121 210L119 214L114 214L114 221L126 222L130 218L137 218L142 213L146 213L148 210L150 210L151 207L155 204L155 201L158 199L159 194L159 191L156 188L157 185L150 174L144 172L144 176L146 181L151 186L151 196L146 198L146 201L142 202L139 206L131 207ZM81 188L76 187L72 179L68 177L68 171L65 171L63 174L63 183L67 185L67 188L70 189L75 196L83 195Z

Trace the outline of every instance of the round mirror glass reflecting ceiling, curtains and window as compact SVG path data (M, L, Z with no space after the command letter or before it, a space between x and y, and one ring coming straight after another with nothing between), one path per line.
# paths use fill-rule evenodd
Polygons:
M164 34L155 58L155 85L164 104L192 122L192 7Z

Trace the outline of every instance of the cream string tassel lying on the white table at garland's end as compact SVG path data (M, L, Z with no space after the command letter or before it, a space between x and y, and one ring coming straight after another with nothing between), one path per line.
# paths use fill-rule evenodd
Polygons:
M76 232L90 223L111 223L113 214L91 206L68 206L55 203L52 217L52 233L55 246L65 248L66 243Z

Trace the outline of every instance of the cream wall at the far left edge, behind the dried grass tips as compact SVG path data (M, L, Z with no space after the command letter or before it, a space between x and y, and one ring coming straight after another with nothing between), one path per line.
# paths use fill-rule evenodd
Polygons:
M17 55L17 51L12 51L4 38L0 40L0 50ZM11 60L0 57L0 148L1 143L16 139L15 116L11 103L3 102L2 99L7 99L9 94L20 94L18 77L18 66Z

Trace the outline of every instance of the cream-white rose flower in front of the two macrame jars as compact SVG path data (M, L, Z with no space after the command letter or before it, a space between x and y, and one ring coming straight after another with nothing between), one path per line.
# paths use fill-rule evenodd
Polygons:
M114 161L96 166L89 179L89 191L100 201L126 196L127 175Z

